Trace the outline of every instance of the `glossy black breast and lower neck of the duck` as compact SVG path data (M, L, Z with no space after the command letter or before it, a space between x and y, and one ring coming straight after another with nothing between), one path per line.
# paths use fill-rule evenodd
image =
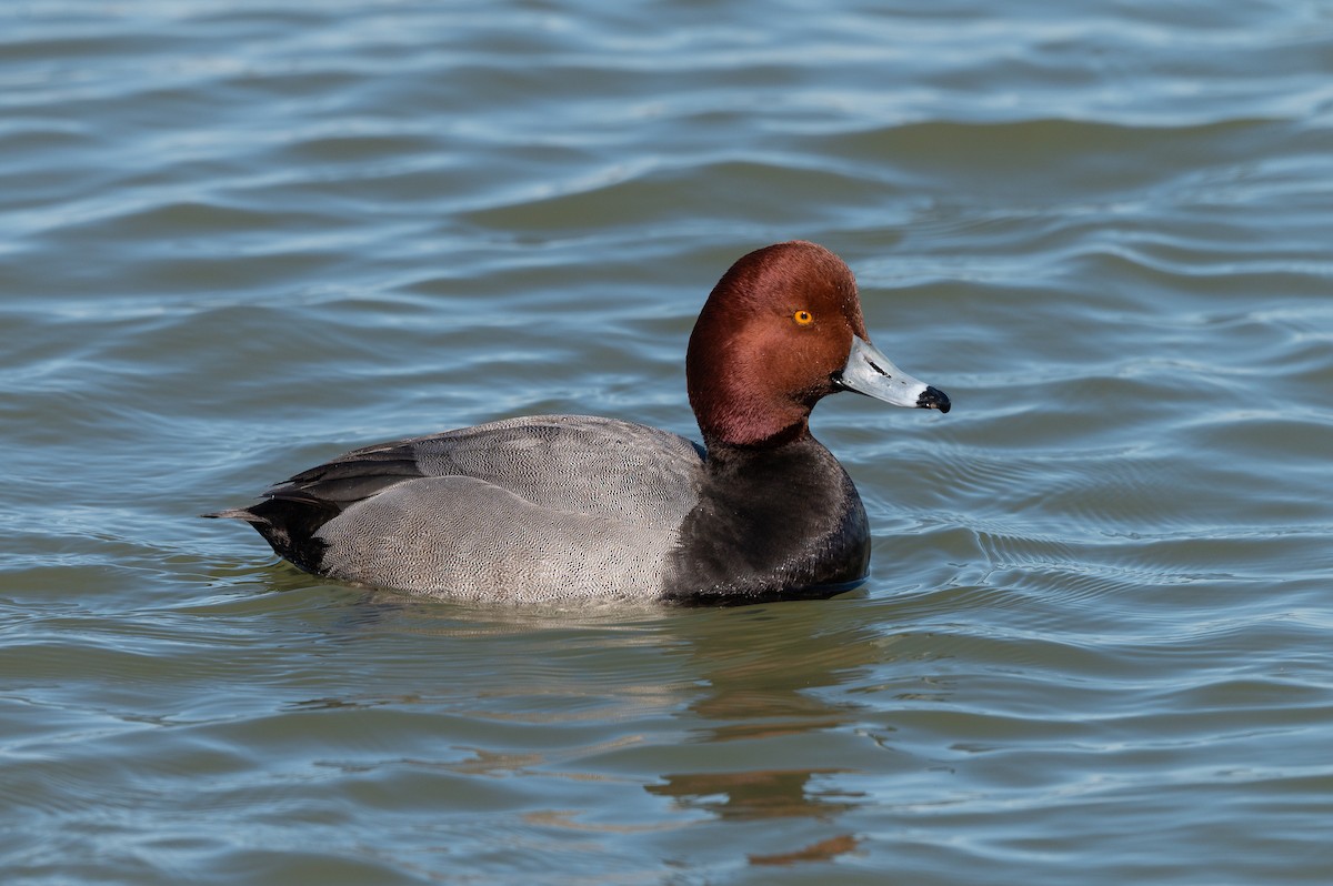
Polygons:
M668 597L829 597L865 577L869 528L842 466L801 422L786 441L709 441L698 504L672 554Z

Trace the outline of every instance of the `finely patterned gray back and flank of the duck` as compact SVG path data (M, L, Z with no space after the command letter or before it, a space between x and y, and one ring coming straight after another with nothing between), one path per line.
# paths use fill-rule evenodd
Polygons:
M323 572L451 598L657 597L702 468L684 437L588 416L496 421L343 460L396 448L427 476L325 524Z

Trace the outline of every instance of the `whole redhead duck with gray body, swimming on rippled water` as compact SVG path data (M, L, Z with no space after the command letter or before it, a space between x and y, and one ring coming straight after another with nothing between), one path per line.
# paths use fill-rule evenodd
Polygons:
M452 600L740 604L864 582L865 509L810 409L840 390L949 398L870 344L842 260L804 241L741 257L685 374L702 446L613 418L511 418L356 449L205 516L249 522L307 572Z

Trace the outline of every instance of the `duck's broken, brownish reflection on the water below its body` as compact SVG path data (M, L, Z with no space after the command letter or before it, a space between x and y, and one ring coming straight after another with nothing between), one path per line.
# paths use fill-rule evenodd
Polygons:
M544 612L375 593L364 604L373 616L363 617L397 622L389 632L395 648L404 644L404 630L457 641L433 646L441 677L457 674L464 660L473 662L468 681L447 681L453 713L507 723L577 722L596 733L532 753L508 746L504 771L549 775L556 767L561 777L600 779L605 770L596 761L632 754L643 790L677 811L728 822L804 817L824 823L870 802L858 781L882 774L882 730L866 727L882 709L868 709L848 691L896 656L889 646L900 637L884 632L885 613L873 601ZM364 628L352 633L364 636ZM455 656L460 660L447 666ZM477 667L479 660L487 666ZM413 669L417 686L420 677ZM432 694L417 698L429 703ZM627 729L649 722L657 726ZM476 757L451 761L452 767L495 774L495 755L467 747ZM696 766L670 766L681 761ZM612 767L617 781L623 766ZM828 838L789 854L854 845ZM772 858L752 861L786 863L785 855Z

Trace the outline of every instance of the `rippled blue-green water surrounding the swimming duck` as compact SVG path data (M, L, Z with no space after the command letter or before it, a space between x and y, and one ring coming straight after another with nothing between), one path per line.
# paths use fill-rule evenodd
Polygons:
M1333 4L0 11L7 883L1328 883ZM539 412L693 434L744 252L948 416L869 585L371 594L195 518Z

